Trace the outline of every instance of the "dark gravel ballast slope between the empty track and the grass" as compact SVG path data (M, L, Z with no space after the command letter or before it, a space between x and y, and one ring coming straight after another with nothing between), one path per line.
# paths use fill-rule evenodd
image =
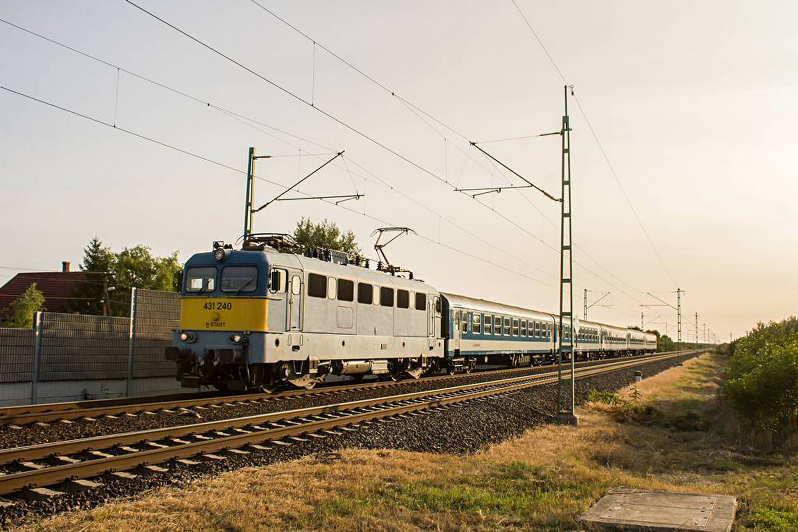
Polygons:
M587 400L587 394L594 388L618 390L634 382L636 370L642 371L643 378L646 378L695 356L697 354L654 361L634 368L579 379L575 385L577 404ZM247 455L222 453L225 456L223 460L210 459L193 466L171 461L161 464L162 467L168 468L166 473L140 475L136 479L119 479L112 475L104 475L94 479L103 483L101 487L81 493L67 493L41 501L10 497L6 500L14 504L0 507L0 524L7 528L65 510L88 509L113 499L140 495L155 487L182 487L194 479L218 475L223 471L239 467L264 466L312 454L326 455L334 459L335 451L347 447L369 449L388 447L406 451L469 454L492 443L521 435L528 428L551 421L552 416L546 412L555 411L556 399L556 385L546 384L524 388L503 396L455 405L442 412L432 411L423 416L385 422L377 420L362 424L361 428L354 432L297 442L290 447L274 445L270 451L249 449L250 453ZM280 409L285 409L282 408L284 403L282 401L279 403Z

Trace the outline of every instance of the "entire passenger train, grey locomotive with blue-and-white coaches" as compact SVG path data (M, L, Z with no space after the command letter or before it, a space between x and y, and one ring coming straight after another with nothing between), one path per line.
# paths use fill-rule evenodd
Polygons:
M286 235L251 237L240 250L214 242L193 255L181 281L180 329L166 350L178 380L191 388L313 388L328 375L398 379L555 360L555 315L359 264L336 251L300 250ZM657 349L654 334L636 329L579 320L573 329L577 360Z

